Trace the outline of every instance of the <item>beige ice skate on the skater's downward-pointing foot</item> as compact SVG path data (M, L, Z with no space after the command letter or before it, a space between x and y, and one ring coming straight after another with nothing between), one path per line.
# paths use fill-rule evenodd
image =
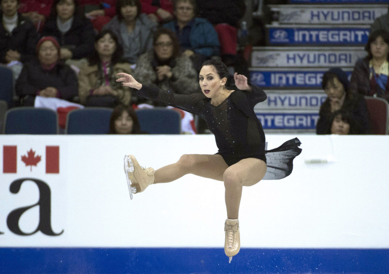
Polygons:
M232 257L238 254L240 250L239 221L227 219L224 224L224 231L226 231L224 252L229 257L229 262L231 262Z

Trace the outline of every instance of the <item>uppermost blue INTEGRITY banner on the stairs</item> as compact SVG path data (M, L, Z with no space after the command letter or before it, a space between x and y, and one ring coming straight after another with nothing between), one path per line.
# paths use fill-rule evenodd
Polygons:
M365 45L369 38L370 25L335 26L274 26L266 25L270 45L339 46Z

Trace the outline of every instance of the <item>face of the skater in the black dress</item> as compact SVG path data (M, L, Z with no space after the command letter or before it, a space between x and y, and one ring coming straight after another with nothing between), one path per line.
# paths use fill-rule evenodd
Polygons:
M213 65L204 65L199 74L199 84L203 94L212 98L219 95L219 92L225 88L227 78L220 78Z

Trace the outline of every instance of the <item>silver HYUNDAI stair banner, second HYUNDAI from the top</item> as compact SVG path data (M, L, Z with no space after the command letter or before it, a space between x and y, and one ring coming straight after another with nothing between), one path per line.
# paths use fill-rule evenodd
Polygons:
M254 47L251 67L354 67L365 57L363 47Z

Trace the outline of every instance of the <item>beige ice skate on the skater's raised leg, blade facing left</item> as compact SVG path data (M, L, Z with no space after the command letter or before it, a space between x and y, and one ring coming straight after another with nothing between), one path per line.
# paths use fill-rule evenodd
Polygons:
M131 200L132 193L142 192L154 183L154 169L141 167L133 155L124 156L124 173Z

